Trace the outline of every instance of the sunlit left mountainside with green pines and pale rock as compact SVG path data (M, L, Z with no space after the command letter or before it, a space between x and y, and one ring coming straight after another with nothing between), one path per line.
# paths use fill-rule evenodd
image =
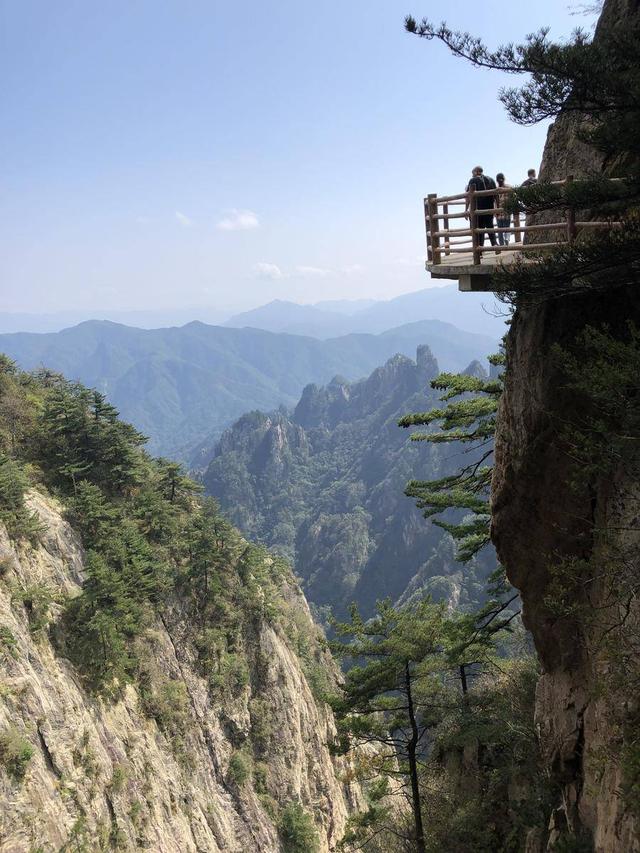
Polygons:
M319 631L142 441L0 358L0 847L328 853L362 796Z

